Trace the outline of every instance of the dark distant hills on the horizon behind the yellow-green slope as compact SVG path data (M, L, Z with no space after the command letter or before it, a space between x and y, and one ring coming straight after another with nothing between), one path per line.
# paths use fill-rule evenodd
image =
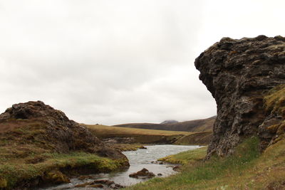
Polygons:
M207 132L212 131L216 116L209 117L204 120L191 120L187 122L173 122L173 123L127 123L121 125L114 125L116 127L132 127L148 130L169 130L169 131L187 131L187 132ZM166 122L166 121L165 121Z

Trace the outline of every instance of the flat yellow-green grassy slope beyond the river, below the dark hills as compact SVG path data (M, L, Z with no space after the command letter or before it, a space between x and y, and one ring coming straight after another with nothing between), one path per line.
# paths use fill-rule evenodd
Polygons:
M105 141L141 144L209 144L212 132L181 132L147 130L132 127L85 125L90 132Z

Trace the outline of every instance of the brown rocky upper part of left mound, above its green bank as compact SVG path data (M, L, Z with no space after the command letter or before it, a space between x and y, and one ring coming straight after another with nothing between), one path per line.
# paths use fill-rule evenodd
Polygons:
M17 128L21 128L21 133L12 130ZM58 153L83 151L103 157L125 158L118 150L105 146L86 127L41 101L19 103L2 113L0 137L14 138L15 143L38 144L38 147Z

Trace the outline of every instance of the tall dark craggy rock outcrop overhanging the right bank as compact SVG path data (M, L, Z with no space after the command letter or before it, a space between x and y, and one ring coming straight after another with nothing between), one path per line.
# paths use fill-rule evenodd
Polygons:
M266 147L274 134L264 125L281 119L264 109L264 95L285 83L285 38L222 38L196 58L195 66L217 102L207 157L231 154L242 139L257 134Z

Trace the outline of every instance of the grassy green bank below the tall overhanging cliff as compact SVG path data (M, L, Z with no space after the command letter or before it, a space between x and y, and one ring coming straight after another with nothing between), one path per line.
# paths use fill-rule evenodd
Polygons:
M229 157L200 160L206 149L196 149L168 160L190 162L180 174L167 178L155 178L127 189L282 189L285 188L285 140L259 153L259 140L252 137L237 147ZM192 159L189 159L192 157ZM167 160L167 159L165 159Z

